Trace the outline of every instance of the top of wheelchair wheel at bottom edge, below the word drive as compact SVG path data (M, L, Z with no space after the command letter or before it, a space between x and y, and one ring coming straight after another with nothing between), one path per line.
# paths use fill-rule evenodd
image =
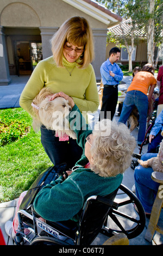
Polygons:
M30 245L69 245L65 241L55 239L54 237L49 236L39 236L36 237Z

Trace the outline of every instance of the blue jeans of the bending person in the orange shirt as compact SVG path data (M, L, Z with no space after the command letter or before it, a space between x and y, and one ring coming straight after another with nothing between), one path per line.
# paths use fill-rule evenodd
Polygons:
M148 97L146 94L140 92L139 90L131 90L127 92L123 102L119 122L126 124L134 106L136 106L137 110L139 111L139 131L137 135L137 143L141 144L144 141L146 135L146 122L148 113Z

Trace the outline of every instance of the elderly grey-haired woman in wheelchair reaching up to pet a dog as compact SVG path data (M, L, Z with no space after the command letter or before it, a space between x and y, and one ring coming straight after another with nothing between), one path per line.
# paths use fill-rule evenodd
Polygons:
M42 188L34 199L34 210L48 221L78 222L80 210L88 197L105 196L120 186L123 173L130 166L135 139L126 125L117 125L109 119L97 123L92 131L73 99L61 92L54 94L51 100L57 96L70 102L70 127L76 132L83 156L72 170L67 170L67 178L60 176ZM14 225L10 221L6 223L9 236L15 235L17 224L17 216Z

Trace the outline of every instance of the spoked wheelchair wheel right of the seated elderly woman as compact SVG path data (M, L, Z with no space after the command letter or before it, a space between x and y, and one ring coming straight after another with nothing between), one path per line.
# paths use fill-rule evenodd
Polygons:
M124 233L128 239L140 235L145 228L146 215L139 199L121 184L115 202L118 203L118 209L110 209L101 233L107 236Z

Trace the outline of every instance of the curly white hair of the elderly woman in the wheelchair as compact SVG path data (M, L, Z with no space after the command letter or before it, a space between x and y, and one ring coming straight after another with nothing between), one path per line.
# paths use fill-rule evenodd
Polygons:
M123 173L130 166L136 143L126 125L103 119L95 125L93 137L91 170L109 177Z

